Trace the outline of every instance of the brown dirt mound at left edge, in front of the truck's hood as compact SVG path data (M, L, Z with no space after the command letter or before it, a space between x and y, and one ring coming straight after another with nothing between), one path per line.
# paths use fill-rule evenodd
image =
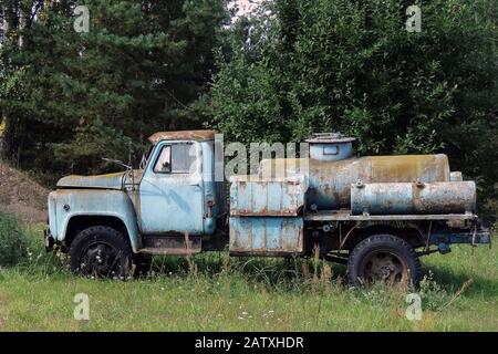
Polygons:
M27 222L46 219L49 190L28 174L0 162L0 209Z

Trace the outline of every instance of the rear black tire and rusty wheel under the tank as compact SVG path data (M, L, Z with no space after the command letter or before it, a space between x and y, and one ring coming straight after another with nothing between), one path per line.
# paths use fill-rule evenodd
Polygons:
M392 235L374 235L360 243L347 260L347 280L354 288L381 281L390 285L418 287L421 262L414 249Z

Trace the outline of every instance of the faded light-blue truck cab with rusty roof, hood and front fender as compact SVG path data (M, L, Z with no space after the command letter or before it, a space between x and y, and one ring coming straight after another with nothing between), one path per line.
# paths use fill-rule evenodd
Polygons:
M141 169L61 178L49 194L46 248L71 253L77 236L94 228L123 239L132 254L200 251L222 210L214 139L212 131L156 133Z

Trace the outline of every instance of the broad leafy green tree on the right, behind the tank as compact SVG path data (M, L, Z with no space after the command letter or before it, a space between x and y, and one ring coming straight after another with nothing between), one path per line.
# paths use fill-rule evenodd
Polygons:
M422 32L405 29L422 9ZM218 53L214 126L227 139L359 137L360 154L448 154L498 197L498 3L276 0Z

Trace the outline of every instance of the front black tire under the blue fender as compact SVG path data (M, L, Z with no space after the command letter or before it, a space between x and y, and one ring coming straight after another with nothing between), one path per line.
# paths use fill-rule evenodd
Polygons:
M133 252L123 235L106 226L81 231L70 248L71 271L90 278L126 280L133 277Z

